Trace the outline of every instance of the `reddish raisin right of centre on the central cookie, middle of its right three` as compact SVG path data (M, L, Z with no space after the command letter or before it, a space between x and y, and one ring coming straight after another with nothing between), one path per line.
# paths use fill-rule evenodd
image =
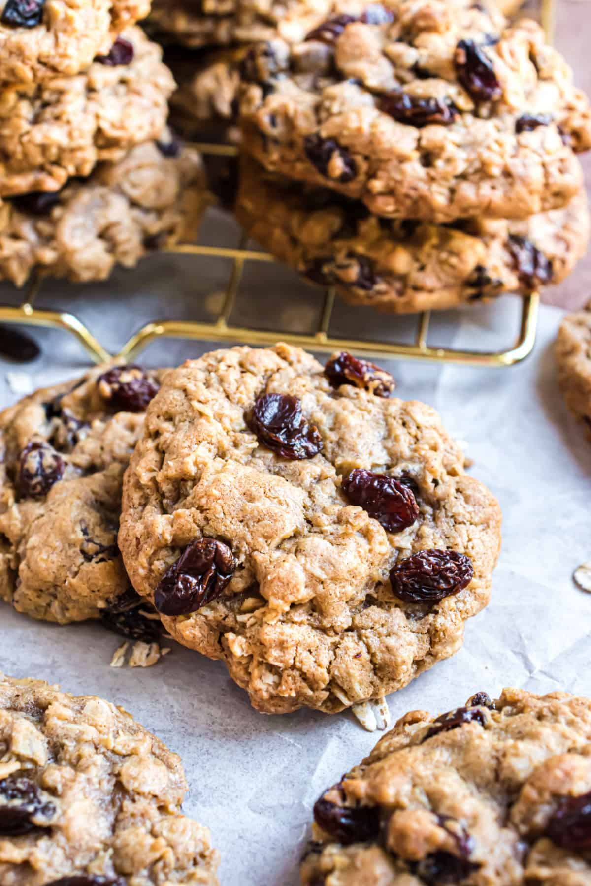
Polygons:
M419 510L408 486L387 474L355 468L343 479L343 492L352 504L366 510L387 532L412 526Z

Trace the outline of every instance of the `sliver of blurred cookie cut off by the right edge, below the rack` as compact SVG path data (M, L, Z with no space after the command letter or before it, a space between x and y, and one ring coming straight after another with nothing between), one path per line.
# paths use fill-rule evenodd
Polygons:
M566 405L591 438L591 305L564 317L556 339L556 362Z

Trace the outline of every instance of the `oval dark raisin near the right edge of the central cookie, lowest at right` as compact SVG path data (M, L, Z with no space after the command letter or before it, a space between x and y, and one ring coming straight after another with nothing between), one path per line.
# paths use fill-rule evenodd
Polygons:
M395 563L390 571L393 594L408 603L432 603L457 594L470 584L470 557L428 548Z

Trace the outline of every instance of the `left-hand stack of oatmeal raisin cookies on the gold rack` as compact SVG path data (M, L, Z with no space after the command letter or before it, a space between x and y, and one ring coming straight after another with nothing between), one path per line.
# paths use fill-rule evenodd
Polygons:
M175 88L148 0L9 0L0 19L0 278L105 279L191 237L201 161L167 131Z

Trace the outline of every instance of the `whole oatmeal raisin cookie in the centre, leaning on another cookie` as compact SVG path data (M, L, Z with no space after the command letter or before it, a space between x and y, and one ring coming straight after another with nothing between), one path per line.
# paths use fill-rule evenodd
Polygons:
M214 351L169 373L123 494L136 591L261 711L393 692L488 602L501 514L430 407L351 355Z

